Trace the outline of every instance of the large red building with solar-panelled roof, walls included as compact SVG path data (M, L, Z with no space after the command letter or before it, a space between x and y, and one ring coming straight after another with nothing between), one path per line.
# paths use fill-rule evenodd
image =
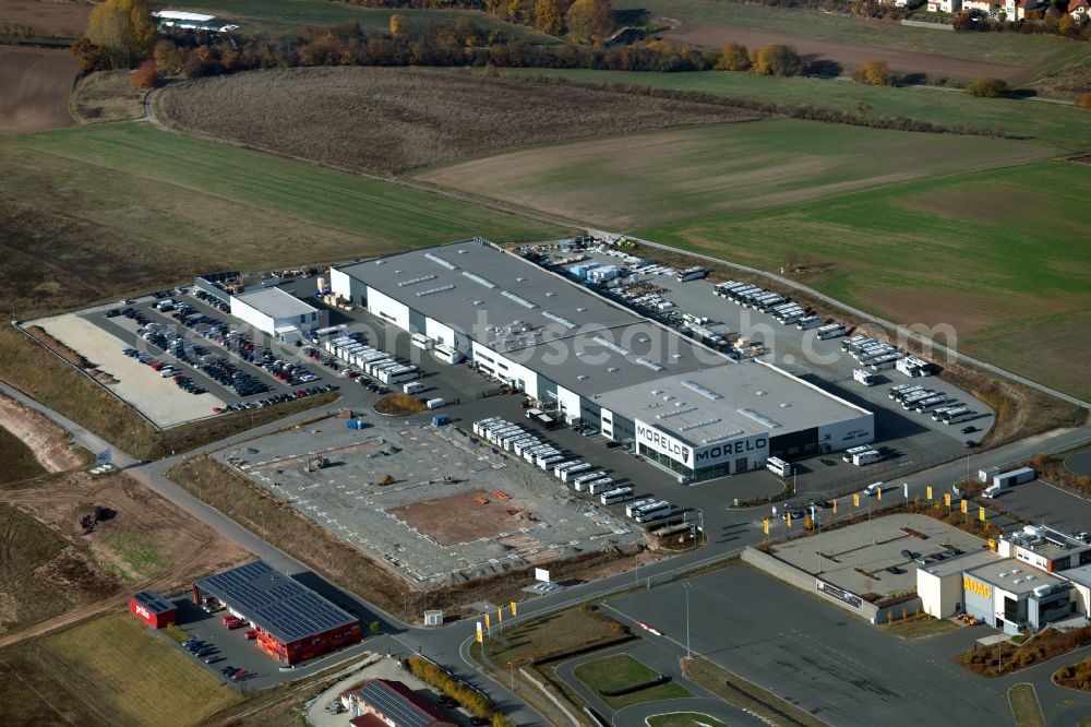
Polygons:
M264 560L194 583L193 603L209 601L249 621L259 648L280 664L299 664L363 639L360 619Z

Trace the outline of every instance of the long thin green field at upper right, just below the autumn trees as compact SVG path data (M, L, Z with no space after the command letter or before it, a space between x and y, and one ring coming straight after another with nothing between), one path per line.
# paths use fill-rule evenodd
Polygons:
M730 0L727 4L734 4ZM1091 152L1091 112L1033 100L974 98L935 86L866 86L849 81L759 76L721 71L631 73L585 70L504 70L504 75L562 78L580 83L621 83L652 88L692 91L774 104L815 105L855 112L856 102L872 106L870 116L903 117L946 127L996 130L1056 145L1069 152Z

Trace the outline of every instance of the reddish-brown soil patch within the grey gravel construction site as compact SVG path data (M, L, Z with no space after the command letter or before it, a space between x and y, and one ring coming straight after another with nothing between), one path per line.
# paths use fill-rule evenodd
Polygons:
M485 490L423 500L387 512L445 546L511 532L526 517L519 505Z

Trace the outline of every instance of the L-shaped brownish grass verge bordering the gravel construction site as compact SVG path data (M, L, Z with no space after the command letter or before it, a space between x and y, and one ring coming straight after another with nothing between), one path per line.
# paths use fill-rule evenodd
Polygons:
M454 615L475 600L507 603L512 594L533 582L531 567L432 591L418 591L367 553L212 457L191 457L171 468L167 476L323 577L361 595L388 613L406 616L409 620L418 618L424 609L443 609ZM587 577L588 572L620 557L614 551L586 553L552 563L550 572L558 580Z

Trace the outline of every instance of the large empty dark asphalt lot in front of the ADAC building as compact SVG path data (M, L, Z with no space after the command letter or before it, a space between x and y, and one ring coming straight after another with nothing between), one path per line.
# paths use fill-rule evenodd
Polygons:
M740 564L607 605L831 725L1011 724L1004 691L949 659L990 631L903 641ZM631 621L632 622L632 621ZM688 631L687 631L688 623Z

